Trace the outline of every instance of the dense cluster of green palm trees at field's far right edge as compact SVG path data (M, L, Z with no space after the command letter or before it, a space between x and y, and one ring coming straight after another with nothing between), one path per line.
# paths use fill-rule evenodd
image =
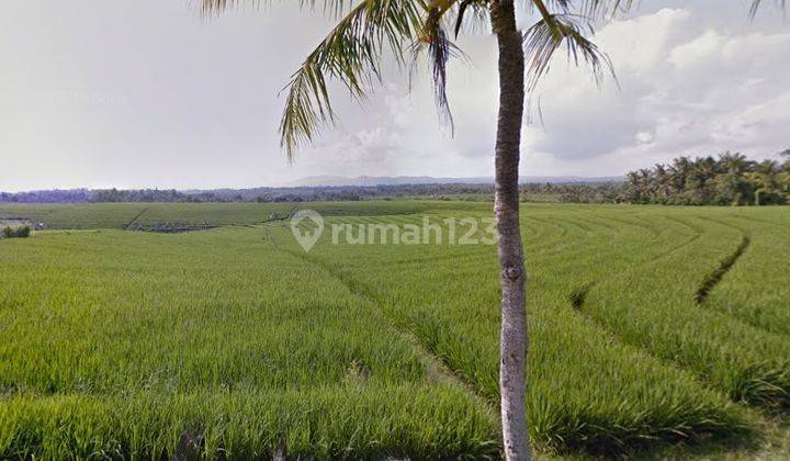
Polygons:
M622 199L674 205L771 205L790 202L790 149L785 160L755 161L742 154L678 157L628 173Z

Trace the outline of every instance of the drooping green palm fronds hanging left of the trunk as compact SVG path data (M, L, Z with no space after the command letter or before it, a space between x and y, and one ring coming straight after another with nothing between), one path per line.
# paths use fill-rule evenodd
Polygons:
M305 8L323 7L325 12L346 13L340 14L338 24L291 76L284 89L287 95L280 136L289 159L293 160L297 148L312 142L327 122L336 121L328 81L339 80L353 99L364 98L369 85L381 79L380 59L385 49L393 53L400 66L406 64L407 52L416 57L427 49L439 116L452 127L447 65L458 48L448 38L443 19L449 11L456 11L459 1L300 0ZM485 1L471 3L479 5ZM212 15L242 3L258 4L258 0L202 0L202 10Z

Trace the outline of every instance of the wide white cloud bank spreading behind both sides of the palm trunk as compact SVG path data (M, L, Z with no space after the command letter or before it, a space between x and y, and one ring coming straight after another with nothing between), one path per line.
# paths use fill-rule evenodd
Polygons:
M618 175L681 154L743 149L759 157L790 145L785 127L790 106L781 103L790 33L727 32L701 21L699 12L664 8L611 22L595 40L611 57L620 87L610 79L598 88L588 69L557 57L530 100L533 119L542 117L524 126L524 175ZM384 156L376 155L380 147L342 149L358 155L360 165L376 164L387 173L490 173L497 99L493 44L478 37L464 45L475 66L472 72L458 65L451 69L454 138L438 127L420 75L410 92L390 82L384 103L372 101L372 112L386 116L360 119L352 108L343 123L397 133L399 144ZM348 144L330 140L316 154L327 155L335 143ZM391 155L397 160L387 160ZM445 161L431 161L437 156Z

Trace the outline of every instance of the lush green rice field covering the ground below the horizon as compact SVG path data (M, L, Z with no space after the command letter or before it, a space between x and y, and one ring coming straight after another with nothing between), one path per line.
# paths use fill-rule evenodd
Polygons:
M500 458L496 247L330 232L490 209L0 204L46 229L0 239L0 459ZM790 458L790 209L521 220L539 459Z

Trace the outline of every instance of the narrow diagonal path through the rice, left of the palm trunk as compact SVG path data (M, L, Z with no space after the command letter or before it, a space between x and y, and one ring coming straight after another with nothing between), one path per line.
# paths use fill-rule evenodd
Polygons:
M425 344L420 340L419 336L416 335L414 331L409 330L408 328L402 328L398 326L397 322L395 322L393 318L391 318L383 308L380 307L380 302L375 299L374 295L371 295L368 290L361 286L361 283L358 280L353 280L334 268L331 268L329 265L316 259L311 258L308 255L301 254L298 251L285 249L285 248L278 248L274 246L274 248L279 251L285 252L287 255L291 255L294 258L301 259L312 266L315 266L329 274L332 279L340 282L346 289L356 297L362 300L365 303L370 303L373 306L377 308L377 311L381 313L382 317L390 324L390 327L398 334L398 336L402 337L404 341L409 344L414 350L417 357L420 359L422 364L426 367L426 372L429 379L432 379L437 382L443 382L443 383L452 383L460 389L463 389L465 392L467 392L470 395L472 395L475 400L479 401L483 405L485 405L488 411L490 411L492 415L498 415L498 403L493 402L490 398L487 398L481 390L474 385L470 380L467 380L463 373L454 370L450 364L448 364L444 360L442 360L440 357L436 356L433 352L431 352L430 348L426 347Z

